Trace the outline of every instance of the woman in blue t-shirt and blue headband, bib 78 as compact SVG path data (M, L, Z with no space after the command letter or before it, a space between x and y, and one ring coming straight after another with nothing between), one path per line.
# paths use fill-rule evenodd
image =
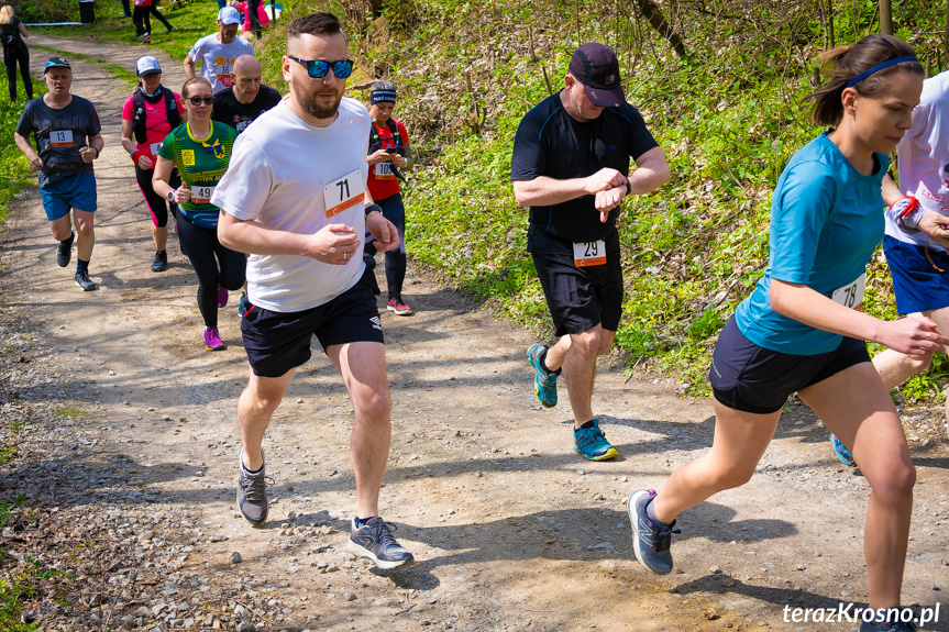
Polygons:
M719 335L709 370L711 450L675 470L658 494L630 497L633 548L653 573L671 572L676 515L751 478L796 391L851 448L872 488L864 551L874 614L860 632L909 631L885 621L884 610L900 606L916 473L864 341L924 354L949 340L931 321L882 321L859 308L867 263L883 236L887 154L912 126L924 73L913 49L886 35L830 51L824 60L832 76L812 95L813 113L834 126L781 175L768 269Z

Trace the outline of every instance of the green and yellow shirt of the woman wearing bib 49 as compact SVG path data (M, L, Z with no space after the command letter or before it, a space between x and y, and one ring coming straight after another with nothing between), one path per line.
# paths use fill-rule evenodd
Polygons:
M172 130L158 147L158 155L175 163L181 175L181 186L191 189L191 199L179 204L196 226L208 229L218 225L218 207L211 204L214 187L228 170L231 148L238 131L223 123L211 121L207 138L196 138L187 123Z

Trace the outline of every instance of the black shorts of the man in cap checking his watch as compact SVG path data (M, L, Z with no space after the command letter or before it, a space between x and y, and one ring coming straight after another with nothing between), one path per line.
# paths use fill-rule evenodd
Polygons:
M616 331L622 313L619 234L613 231L605 240L605 264L583 268L574 263L571 242L533 231L527 239L556 335L582 333L597 324Z

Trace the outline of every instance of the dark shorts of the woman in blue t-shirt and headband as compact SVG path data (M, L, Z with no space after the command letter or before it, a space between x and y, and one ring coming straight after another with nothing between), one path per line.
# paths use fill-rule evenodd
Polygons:
M719 403L769 414L781 410L792 393L862 362L870 362L862 340L845 337L836 350L819 355L791 355L758 346L732 317L718 335L708 381Z

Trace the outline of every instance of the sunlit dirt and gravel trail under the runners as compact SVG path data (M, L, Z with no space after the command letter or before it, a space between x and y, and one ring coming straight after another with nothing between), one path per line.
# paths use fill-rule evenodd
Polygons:
M145 52L30 42L130 68ZM179 86L180 64L158 56L166 85ZM152 561L139 575L113 564L104 588L90 584L107 597L114 587L112 625L234 629L241 617L220 613L253 602L246 618L257 630L856 630L783 620L785 605L865 600L868 486L836 461L813 414L791 410L749 485L686 512L673 541L677 573L649 575L633 559L622 499L707 448L710 403L603 368L595 410L621 456L585 462L571 450L565 390L553 411L533 397L525 352L534 339L411 270L406 298L417 315L383 312L394 441L382 512L420 564L383 574L343 551L352 408L318 346L271 425L274 506L266 528L251 529L234 507L234 410L247 374L235 306L220 323L229 348L203 351L196 277L176 240L168 271L148 269L147 211L120 145L126 91L95 64L74 67L73 91L96 103L106 137L90 267L101 289L79 291L73 267L56 266L38 193L25 192L3 236L2 286L8 308L41 329L9 337L4 353L26 356L14 387L48 364L49 381L19 399L40 406L42 393L59 415L26 426L31 454L2 470L3 494L63 499L49 511L71 512L79 531L104 524L101 537ZM904 599L934 606L949 589L949 455L945 444L915 445ZM73 468L58 479L68 489L43 483L57 468ZM163 551L175 554L164 562ZM155 578L142 580L150 568ZM196 595L233 597L217 614L187 619ZM93 601L74 629L107 627ZM949 605L941 611L949 619Z

